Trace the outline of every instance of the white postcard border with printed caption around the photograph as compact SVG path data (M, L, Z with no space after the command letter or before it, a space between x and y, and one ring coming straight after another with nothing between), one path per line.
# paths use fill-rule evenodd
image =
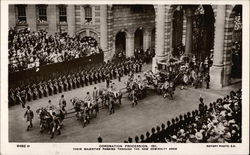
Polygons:
M8 142L8 4L242 4L243 5L243 117L242 143L235 148L209 148L206 144L156 144L178 151L73 151L74 147L99 147L98 143L24 143L20 149ZM245 34L245 35L244 35ZM249 153L249 1L5 1L1 2L1 152L0 154L248 154ZM103 143L105 144L105 143ZM114 143L109 143L114 144ZM118 144L118 143L115 143ZM124 145L121 143L121 145ZM230 144L229 144L230 145ZM149 144L150 146L150 144Z

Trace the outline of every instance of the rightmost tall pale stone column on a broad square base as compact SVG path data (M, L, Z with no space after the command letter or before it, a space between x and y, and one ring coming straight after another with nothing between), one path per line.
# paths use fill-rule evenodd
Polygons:
M222 88L225 11L225 5L218 5L214 33L214 60L210 71L211 87L214 89Z

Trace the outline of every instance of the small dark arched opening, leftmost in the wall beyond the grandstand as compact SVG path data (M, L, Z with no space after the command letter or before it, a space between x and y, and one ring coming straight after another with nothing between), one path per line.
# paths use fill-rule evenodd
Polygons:
M123 58L126 55L126 32L118 32L115 36L115 57Z

